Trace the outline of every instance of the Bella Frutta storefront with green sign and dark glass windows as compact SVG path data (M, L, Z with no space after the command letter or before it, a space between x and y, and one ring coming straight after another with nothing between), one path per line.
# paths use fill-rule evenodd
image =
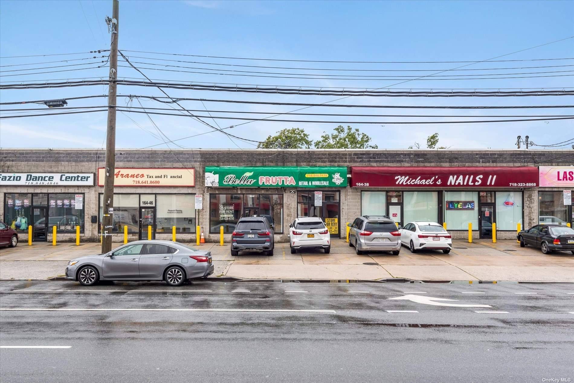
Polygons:
M324 220L333 237L340 233L340 190L346 167L205 167L210 192L210 233L232 233L242 216L266 215L276 234L298 216ZM223 194L215 188L234 188ZM324 189L327 190L324 190ZM296 197L292 209L285 200Z

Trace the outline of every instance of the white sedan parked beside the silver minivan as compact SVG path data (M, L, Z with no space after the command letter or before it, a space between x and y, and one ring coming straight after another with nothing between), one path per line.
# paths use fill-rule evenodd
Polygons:
M399 231L402 244L408 246L411 253L428 249L448 254L452 250L451 235L436 222L409 222Z

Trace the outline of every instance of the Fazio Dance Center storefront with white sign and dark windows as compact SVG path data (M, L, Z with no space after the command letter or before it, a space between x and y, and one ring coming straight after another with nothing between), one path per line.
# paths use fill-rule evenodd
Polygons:
M49 192L61 187L94 186L94 173L2 173L0 185L42 192L4 194L3 220L19 233L33 227L33 241L44 242L56 226L57 233L84 233L84 193ZM60 187L60 188L59 188Z

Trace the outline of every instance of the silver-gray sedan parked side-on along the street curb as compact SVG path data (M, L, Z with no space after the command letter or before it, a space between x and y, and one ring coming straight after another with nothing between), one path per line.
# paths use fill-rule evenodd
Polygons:
M105 254L79 257L68 262L65 276L91 286L98 281L184 281L214 273L211 252L179 242L134 241Z

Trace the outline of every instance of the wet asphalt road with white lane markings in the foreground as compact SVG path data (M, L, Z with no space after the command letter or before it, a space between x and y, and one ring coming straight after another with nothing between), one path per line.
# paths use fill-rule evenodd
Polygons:
M3 383L574 381L574 284L2 281L0 308Z

